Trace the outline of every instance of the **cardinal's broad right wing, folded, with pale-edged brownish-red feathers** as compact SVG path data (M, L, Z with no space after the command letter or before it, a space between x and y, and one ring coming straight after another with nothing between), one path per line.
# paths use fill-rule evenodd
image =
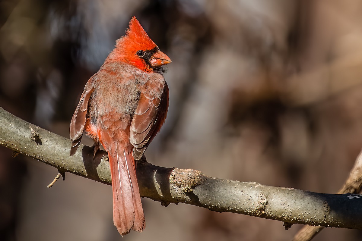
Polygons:
M161 98L141 93L130 128L134 159L139 160L165 122L168 109L168 86Z

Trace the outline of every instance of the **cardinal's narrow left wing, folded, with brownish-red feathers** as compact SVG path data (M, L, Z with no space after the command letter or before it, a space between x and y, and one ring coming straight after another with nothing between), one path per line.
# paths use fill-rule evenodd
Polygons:
M88 83L84 87L82 96L80 97L79 104L70 122L70 139L72 147L70 155L72 156L79 147L80 140L82 139L85 121L88 115L88 103L90 96L92 96L94 88L89 86Z

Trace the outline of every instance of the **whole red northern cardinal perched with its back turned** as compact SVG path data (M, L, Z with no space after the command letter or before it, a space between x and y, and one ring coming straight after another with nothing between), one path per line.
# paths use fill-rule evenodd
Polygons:
M165 122L168 86L163 65L171 63L133 17L126 35L88 80L70 124L73 155L85 134L108 152L113 222L118 232L141 232L144 214L136 179L139 160Z

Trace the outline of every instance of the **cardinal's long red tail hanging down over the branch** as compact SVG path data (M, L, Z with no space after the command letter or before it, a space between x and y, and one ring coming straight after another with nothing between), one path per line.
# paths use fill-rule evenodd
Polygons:
M131 229L142 232L144 214L136 178L132 152L126 152L119 143L108 150L113 188L113 222L118 232L127 234Z

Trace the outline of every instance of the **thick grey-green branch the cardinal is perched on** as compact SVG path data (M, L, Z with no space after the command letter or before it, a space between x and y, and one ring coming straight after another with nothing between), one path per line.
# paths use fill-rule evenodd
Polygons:
M81 145L70 156L70 140L29 124L0 107L0 145L57 168L111 183L106 152ZM14 155L16 156L16 155ZM362 229L361 195L322 194L207 177L192 169L137 165L140 194L169 203L186 203L217 212L234 212L292 224Z

